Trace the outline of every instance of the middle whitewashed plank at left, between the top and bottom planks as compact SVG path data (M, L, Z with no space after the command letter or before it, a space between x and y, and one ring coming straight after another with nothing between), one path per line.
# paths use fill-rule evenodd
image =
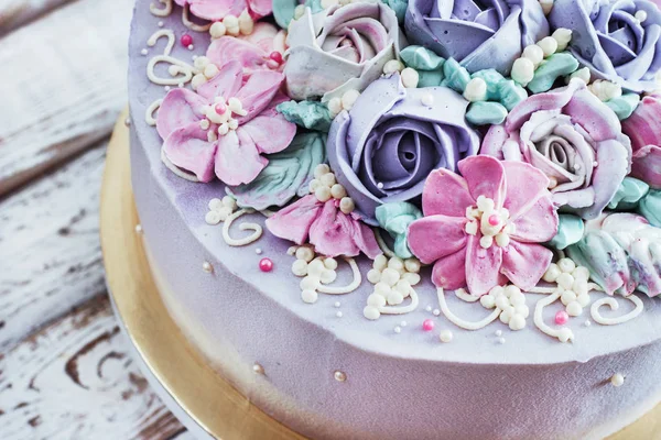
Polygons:
M0 199L0 350L105 292L98 206L106 142Z

